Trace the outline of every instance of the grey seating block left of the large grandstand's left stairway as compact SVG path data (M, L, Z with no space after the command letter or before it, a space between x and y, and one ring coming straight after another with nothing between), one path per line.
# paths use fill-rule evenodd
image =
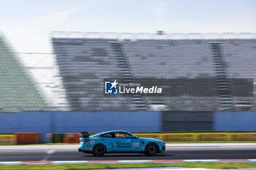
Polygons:
M135 109L127 97L103 96L103 80L120 77L108 44L111 41L114 39L53 39L72 110Z

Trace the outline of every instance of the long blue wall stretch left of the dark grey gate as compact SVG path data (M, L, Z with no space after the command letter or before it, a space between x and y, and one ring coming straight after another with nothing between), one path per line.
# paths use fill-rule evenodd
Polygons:
M161 131L160 112L18 112L0 113L0 134L37 132L42 142L49 133L91 133L121 129Z

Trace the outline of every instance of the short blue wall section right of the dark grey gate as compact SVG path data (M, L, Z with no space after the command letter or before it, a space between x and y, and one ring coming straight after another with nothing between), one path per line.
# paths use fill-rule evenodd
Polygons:
M215 131L256 131L256 112L214 112Z

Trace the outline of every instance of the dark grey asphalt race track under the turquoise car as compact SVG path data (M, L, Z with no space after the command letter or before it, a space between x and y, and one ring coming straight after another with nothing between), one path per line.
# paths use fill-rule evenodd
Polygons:
M256 159L256 147L167 148L156 156L144 154L105 154L95 157L77 150L0 150L0 161L116 161L184 159Z

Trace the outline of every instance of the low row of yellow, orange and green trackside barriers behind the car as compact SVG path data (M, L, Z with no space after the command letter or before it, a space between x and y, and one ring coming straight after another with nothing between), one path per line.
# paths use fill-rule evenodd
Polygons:
M92 134L90 134L92 135ZM250 141L256 142L256 132L193 132L193 133L135 133L138 137L161 139L165 142L221 142ZM50 143L78 143L80 134L48 134ZM0 134L0 144L39 144L39 133Z

